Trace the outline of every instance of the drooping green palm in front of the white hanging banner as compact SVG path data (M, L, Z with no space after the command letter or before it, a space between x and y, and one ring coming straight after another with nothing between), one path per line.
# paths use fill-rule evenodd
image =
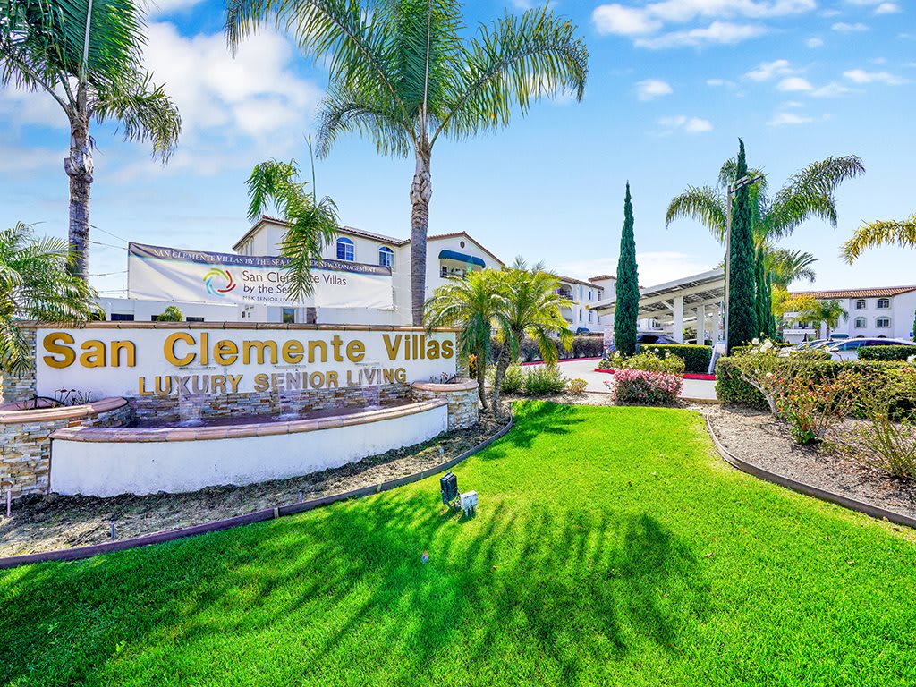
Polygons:
M289 299L296 301L311 296L315 290L312 261L322 258L322 251L333 243L340 228L337 206L327 196L318 199L314 168L312 191L306 191L307 183L300 181L296 160L261 162L246 183L249 220L254 221L273 205L287 222L280 255L289 259L286 267Z

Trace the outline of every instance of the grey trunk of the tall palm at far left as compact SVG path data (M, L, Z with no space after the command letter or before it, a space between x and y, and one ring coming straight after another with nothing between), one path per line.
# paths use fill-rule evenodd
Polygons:
M70 246L75 256L74 273L89 281L89 190L93 183L93 156L89 143L89 114L83 87L77 95L77 109L70 119L70 157L63 169L70 177Z

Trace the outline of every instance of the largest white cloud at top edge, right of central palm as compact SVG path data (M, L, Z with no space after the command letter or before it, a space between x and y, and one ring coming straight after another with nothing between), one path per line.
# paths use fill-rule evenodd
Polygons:
M642 48L697 47L706 43L734 44L767 30L759 24L727 20L759 22L799 15L816 7L816 0L655 0L641 6L606 3L594 8L592 22L598 33L634 38ZM669 26L698 20L711 23L708 27L678 30Z

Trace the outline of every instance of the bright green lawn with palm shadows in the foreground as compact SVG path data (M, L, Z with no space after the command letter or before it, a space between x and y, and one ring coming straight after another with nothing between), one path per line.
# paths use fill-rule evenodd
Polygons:
M455 472L476 518L430 479L0 573L0 683L916 682L913 533L737 473L695 414L529 403Z

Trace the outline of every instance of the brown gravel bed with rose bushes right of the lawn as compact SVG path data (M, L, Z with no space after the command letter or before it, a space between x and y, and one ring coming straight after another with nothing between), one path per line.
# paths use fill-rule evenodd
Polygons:
M916 518L913 482L880 473L829 446L800 446L792 442L789 426L773 420L767 412L721 407L702 411L708 415L716 437L737 458L771 473ZM849 429L849 424L837 427L834 438Z

